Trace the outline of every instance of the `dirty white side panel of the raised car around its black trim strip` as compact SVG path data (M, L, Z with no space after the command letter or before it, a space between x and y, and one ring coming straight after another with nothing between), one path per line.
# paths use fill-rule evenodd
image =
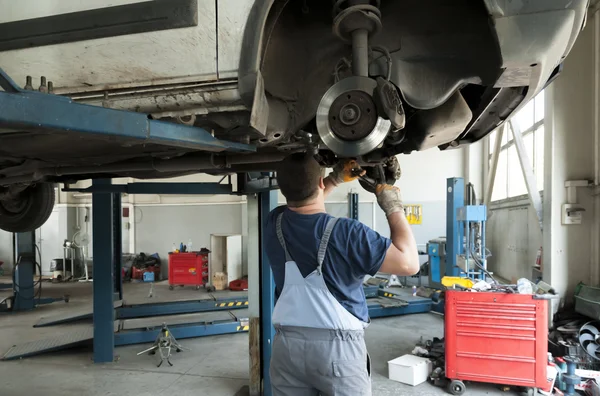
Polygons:
M235 77L232 71L239 63L239 55L235 54L239 54L243 29L235 26L240 24L236 21L244 20L244 9L248 7L232 7L233 1L219 1L220 18L223 26L227 26L223 31L217 31L216 2L198 0L198 26L0 52L0 66L19 83L25 81L26 75L47 76L57 92L94 91L97 86L109 89L147 86L166 81L215 81L219 78L217 38L220 36L221 70L225 76ZM0 0L0 9L4 11L0 22L139 2L36 0L35 7L23 7L19 2Z

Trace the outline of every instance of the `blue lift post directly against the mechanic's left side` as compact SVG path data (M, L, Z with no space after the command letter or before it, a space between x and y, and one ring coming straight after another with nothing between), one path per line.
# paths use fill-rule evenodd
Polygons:
M264 230L267 216L271 210L277 207L276 190L261 192L258 194L258 215L259 215L259 254L260 254L260 328L261 328L261 360L263 377L263 396L271 395L271 378L269 377L269 368L271 364L271 348L275 329L273 327L272 314L275 305L275 282L269 258L266 255L265 247L268 241L264 238ZM271 241L272 242L272 241Z

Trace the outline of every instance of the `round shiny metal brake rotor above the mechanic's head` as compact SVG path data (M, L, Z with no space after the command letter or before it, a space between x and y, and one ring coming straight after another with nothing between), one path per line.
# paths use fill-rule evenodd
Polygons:
M367 77L348 77L323 95L317 109L321 140L342 157L366 154L383 143L391 122L377 115L373 91L377 82Z

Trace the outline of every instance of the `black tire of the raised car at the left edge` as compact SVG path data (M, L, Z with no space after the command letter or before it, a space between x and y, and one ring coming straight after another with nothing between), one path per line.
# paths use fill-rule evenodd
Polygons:
M0 201L0 229L27 232L40 228L54 209L54 184L38 183L17 198Z

